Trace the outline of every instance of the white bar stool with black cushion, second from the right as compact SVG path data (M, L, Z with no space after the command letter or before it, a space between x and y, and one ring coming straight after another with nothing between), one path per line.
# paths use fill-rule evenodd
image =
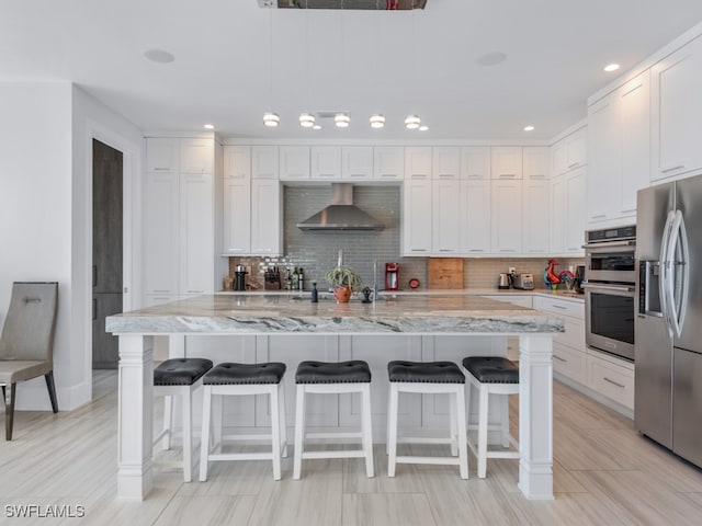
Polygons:
M465 427L465 375L453 362L403 362L387 364L390 396L387 424L387 476L395 477L396 464L438 464L458 466L462 479L468 478L468 454ZM417 438L397 436L397 413L400 392L448 393L450 400L450 436ZM398 443L450 444L451 457L397 456ZM457 458L456 458L457 454Z

